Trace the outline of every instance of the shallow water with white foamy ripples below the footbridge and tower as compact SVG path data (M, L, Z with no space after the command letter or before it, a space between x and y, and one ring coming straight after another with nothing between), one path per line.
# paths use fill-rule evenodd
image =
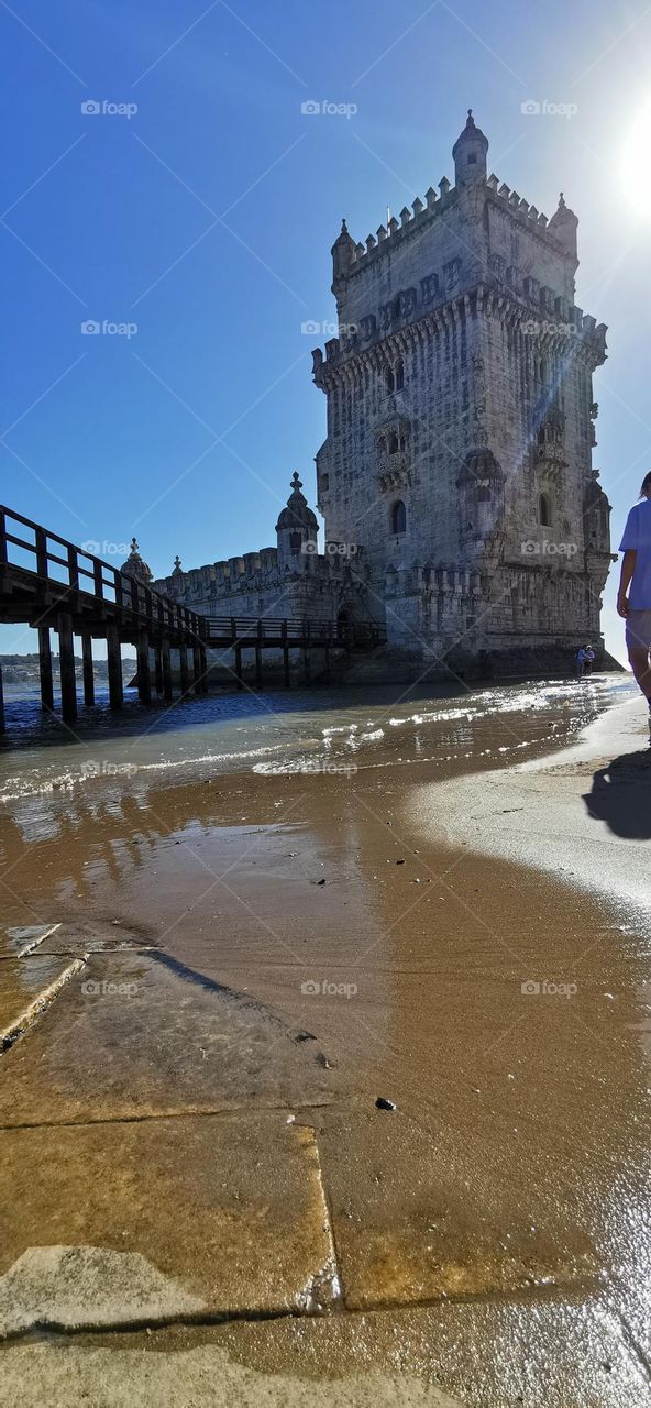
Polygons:
M73 727L44 717L37 694L7 691L0 743L0 804L103 787L144 797L228 773L342 773L404 763L512 755L562 742L633 689L626 676L540 680L485 689L407 687L211 694L142 710L131 696L120 715L97 704ZM87 804L87 796L85 798ZM68 805L66 801L66 805ZM32 819L39 817L31 808Z

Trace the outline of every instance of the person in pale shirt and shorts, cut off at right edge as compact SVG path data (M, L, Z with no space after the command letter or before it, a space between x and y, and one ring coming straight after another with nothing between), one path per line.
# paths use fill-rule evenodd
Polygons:
M628 659L648 704L651 729L651 470L644 476L640 498L628 514L620 542L624 558L617 611L626 621Z

